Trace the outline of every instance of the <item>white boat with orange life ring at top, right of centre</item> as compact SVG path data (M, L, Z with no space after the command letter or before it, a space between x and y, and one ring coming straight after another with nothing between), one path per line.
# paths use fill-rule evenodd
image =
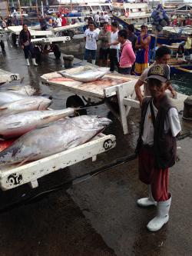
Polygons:
M151 16L151 9L147 3L113 2L112 8L114 19L123 26L147 24Z

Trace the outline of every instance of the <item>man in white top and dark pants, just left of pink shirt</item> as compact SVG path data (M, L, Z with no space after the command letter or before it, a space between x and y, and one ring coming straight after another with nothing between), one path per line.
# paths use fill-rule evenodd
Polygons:
M109 58L110 58L110 71L113 72L115 66L119 68L119 48L120 44L118 42L118 23L111 23L111 40L108 44Z

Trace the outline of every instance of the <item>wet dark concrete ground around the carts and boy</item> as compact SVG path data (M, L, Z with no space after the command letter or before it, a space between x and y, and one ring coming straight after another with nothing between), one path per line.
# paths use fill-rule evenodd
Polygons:
M45 56L38 67L27 67L23 52L6 45L0 52L0 68L18 72L39 93L54 97L52 108L64 108L68 94L61 88L39 86L39 76L61 69L61 61ZM111 168L85 181L68 184L72 178L102 167L116 158L134 151L138 135L139 111L131 110L129 134L105 105L90 108L88 114L108 116L114 122L105 133L114 134L117 147L98 156L98 161L83 161L65 170L45 176L39 187L28 185L0 193L0 255L5 256L170 256L192 254L192 161L191 138L178 141L180 161L170 170L173 202L170 221L161 231L151 233L145 227L154 217L155 208L142 209L137 198L147 194L146 186L137 178L137 160ZM182 123L183 131L191 123ZM43 194L51 188L62 188ZM41 196L36 198L35 196ZM28 198L33 200L28 201ZM24 204L16 204L19 201ZM8 207L13 204L12 207Z

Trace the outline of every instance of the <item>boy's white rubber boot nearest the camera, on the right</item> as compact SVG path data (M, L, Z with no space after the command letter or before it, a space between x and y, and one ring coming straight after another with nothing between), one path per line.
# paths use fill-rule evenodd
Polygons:
M147 224L149 231L158 231L163 227L164 224L167 223L169 220L170 203L171 195L167 201L157 202L157 216Z

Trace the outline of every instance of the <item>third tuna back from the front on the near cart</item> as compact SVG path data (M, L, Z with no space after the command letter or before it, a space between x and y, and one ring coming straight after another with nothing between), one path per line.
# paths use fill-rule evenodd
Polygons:
M0 106L0 116L11 115L25 111L45 110L51 105L51 100L44 97L28 97Z

